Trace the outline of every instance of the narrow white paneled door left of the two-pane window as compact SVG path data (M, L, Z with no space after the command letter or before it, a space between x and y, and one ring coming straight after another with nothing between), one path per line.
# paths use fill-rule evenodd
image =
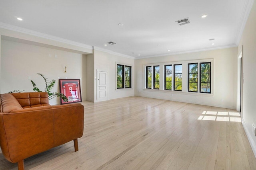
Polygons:
M97 102L108 100L108 72L97 71Z

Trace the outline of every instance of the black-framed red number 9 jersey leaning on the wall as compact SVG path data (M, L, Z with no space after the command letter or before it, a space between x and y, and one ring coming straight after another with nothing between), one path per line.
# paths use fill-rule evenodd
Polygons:
M59 79L60 93L68 98L65 102L60 98L60 104L82 102L80 79Z

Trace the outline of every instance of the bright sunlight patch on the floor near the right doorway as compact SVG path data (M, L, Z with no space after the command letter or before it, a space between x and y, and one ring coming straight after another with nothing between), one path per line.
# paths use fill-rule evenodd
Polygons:
M239 112L203 111L198 120L241 122Z

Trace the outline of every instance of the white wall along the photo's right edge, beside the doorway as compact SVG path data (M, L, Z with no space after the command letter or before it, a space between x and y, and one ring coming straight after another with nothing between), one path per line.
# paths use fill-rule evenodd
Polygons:
M256 155L256 137L252 133L252 124L256 126L256 2L248 17L244 32L238 45L240 52L243 45L243 104L242 123Z

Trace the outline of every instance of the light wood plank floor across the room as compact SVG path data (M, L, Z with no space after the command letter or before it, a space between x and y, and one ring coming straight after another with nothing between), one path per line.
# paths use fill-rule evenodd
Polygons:
M31 170L256 170L235 110L142 97L82 102L84 135L24 160ZM18 169L0 153L0 169Z

